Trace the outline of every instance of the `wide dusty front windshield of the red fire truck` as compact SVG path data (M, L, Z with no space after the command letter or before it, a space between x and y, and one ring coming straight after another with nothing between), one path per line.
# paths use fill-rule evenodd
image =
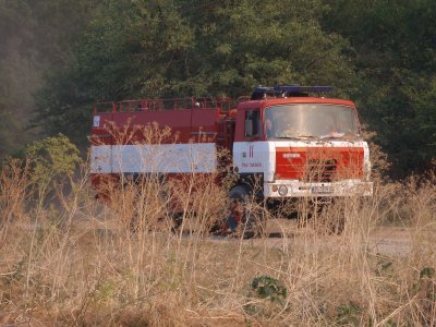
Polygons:
M351 107L323 104L270 106L265 135L274 138L356 138L359 124Z

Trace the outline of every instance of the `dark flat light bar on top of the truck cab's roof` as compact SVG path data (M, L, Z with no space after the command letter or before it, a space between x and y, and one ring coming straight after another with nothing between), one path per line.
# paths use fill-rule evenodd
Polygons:
M251 99L307 97L310 93L324 93L331 92L332 89L332 86L300 86L299 84L258 86L254 89Z

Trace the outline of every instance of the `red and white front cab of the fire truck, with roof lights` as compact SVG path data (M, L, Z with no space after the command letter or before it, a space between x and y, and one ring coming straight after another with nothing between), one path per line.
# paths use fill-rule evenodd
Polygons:
M233 169L265 199L372 195L355 105L310 96L330 89L261 87L238 106Z

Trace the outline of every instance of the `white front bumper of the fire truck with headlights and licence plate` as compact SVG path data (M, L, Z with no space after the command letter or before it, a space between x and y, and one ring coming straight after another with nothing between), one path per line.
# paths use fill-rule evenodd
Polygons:
M265 198L372 196L373 183L362 180L337 182L301 182L280 180L264 183Z

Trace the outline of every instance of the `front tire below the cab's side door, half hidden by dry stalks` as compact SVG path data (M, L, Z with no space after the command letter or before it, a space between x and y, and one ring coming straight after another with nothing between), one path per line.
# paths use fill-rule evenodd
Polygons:
M230 207L227 229L244 239L261 237L265 227L262 213L252 197L252 192L245 185L237 185L228 193Z

